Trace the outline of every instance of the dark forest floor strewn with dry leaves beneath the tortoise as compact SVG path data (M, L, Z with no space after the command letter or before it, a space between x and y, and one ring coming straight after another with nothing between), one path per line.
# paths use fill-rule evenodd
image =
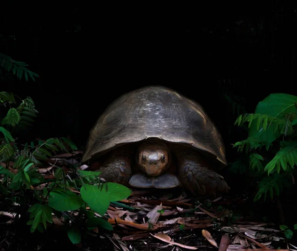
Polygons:
M88 230L77 245L67 237L63 217L54 216L46 233L31 234L30 226L20 228L5 205L0 201L0 251L297 250L278 224L248 213L253 204L246 196L205 201L183 189L132 189L103 215L113 231Z

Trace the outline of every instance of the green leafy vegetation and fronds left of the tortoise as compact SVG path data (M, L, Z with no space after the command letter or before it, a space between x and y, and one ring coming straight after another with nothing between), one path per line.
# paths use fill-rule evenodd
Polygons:
M0 60L2 69L9 72L12 68L19 79L38 77L25 63L3 54ZM32 126L38 111L31 97L17 98L13 93L0 92L0 192L6 204L17 205L18 209L10 211L16 215L15 220L26 218L29 213L27 224L31 232L44 232L53 217L63 215L68 237L74 244L81 242L82 231L95 227L112 230L102 215L111 202L127 198L131 191L120 184L103 182L100 172L84 171L79 165L72 165L69 170L56 167L55 156L78 150L65 137L18 143L17 135L21 137L21 130ZM48 165L55 167L52 179L46 179L41 172Z

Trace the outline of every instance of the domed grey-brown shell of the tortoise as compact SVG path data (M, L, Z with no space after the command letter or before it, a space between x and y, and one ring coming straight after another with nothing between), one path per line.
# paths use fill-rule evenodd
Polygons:
M222 137L203 108L163 86L136 89L113 101L91 129L82 162L148 138L188 145L219 167L227 165Z

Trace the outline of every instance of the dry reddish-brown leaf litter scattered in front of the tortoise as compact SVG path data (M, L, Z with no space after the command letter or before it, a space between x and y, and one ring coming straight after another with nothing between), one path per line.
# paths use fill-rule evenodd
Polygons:
M75 154L54 156L48 167L39 168L40 173L46 179L53 178L54 167L60 165L66 168L78 163ZM13 163L10 165L13 166ZM87 168L86 165L79 167L81 170ZM68 172L71 170L68 169ZM232 204L231 198L218 197L210 202L209 207L183 189L131 190L131 195L120 201L123 207L111 203L102 215L112 224L113 231L91 230L101 239L106 237L114 250L282 250L277 247L280 246L278 243L285 241L285 237L273 223L259 222L256 218L248 221L247 217L234 217L228 209L219 209L218 205ZM11 218L9 212L1 211L1 214ZM64 225L63 217L53 215L52 220L56 226ZM8 220L7 223L11 222ZM293 245L290 249L287 247L287 250L297 250Z

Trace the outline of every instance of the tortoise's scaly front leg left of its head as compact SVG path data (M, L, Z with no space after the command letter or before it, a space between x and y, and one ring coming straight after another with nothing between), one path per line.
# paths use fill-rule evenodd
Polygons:
M97 171L102 172L100 177L104 178L107 182L115 182L128 186L132 175L131 156L132 152L130 150L112 151L102 166L97 169Z

